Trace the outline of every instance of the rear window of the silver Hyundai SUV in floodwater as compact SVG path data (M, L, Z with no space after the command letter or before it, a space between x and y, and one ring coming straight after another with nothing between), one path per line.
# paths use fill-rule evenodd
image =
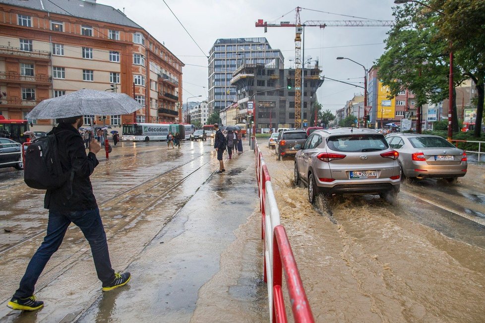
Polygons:
M337 152L376 152L389 148L384 136L359 134L333 136L327 139L328 148Z

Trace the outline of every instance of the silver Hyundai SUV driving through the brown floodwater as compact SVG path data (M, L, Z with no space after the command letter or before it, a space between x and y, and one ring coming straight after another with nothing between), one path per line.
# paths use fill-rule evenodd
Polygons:
M379 194L390 203L401 186L399 153L371 129L316 130L295 146L295 184L308 186L308 201L324 194Z

